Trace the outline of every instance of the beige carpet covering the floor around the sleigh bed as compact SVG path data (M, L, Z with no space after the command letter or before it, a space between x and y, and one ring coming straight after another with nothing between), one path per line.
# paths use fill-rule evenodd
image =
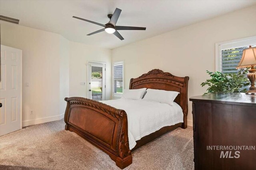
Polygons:
M0 137L0 169L120 170L102 150L62 120L33 125ZM125 170L192 170L193 129L178 128L132 152Z

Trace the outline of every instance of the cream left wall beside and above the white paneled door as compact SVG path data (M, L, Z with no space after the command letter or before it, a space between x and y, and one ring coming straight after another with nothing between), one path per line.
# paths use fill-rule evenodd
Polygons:
M55 33L1 22L1 44L22 50L22 126L63 117L60 72L67 57L61 53L62 41ZM61 86L67 88L68 83Z

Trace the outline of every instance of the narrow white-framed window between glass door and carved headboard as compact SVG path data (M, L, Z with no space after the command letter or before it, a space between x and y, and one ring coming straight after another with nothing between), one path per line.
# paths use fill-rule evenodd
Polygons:
M124 90L124 62L114 62L112 68L112 90L114 97L121 97Z

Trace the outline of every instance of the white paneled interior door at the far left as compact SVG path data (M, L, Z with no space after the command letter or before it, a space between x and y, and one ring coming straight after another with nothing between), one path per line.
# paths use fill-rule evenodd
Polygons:
M22 51L1 45L0 136L22 128Z

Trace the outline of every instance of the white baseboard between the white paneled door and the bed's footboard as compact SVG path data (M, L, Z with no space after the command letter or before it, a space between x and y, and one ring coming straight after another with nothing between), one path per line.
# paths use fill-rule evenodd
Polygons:
M60 115L56 115L56 116L50 116L50 117L44 117L44 118L39 118L39 119L34 119L34 120L26 120L26 121L22 121L22 127L26 127L26 126L30 126L30 125L36 125L36 124L40 124L40 123L46 123L49 121L56 121L56 120L60 120L64 118L64 114L62 113Z

